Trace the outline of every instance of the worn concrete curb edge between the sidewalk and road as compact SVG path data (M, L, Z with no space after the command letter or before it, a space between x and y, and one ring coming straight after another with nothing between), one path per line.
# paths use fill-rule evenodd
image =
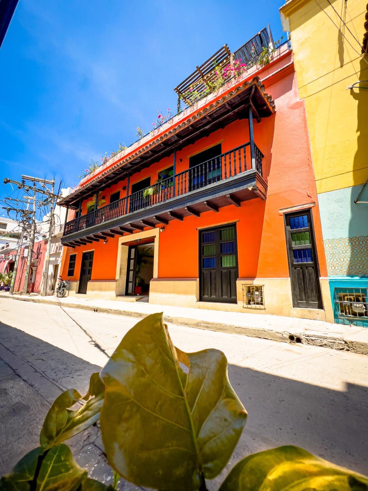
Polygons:
M1 295L0 299L11 299L11 300L21 300L25 302L33 302L33 303L44 303L49 305L56 305L59 307L68 307L68 308L78 308L81 310L90 310L92 312L100 312L103 314L113 314L113 315L123 315L126 317L134 317L137 319L141 319L148 314L143 314L140 312L132 312L131 310L123 310L123 309L111 309L107 307L94 307L93 305L80 305L76 303L58 303L55 300L45 300L39 298L22 298L22 297L13 297L8 295ZM196 327L198 329L206 329L217 332L226 332L230 334L240 334L243 336L249 337L257 337L261 339L268 339L270 341L279 341L286 342L289 344L296 344L299 342L301 344L307 344L310 346L320 346L323 348L331 348L333 350L339 351L350 351L352 353L357 353L360 355L368 355L368 340L362 341L361 339L344 339L343 336L339 336L338 333L336 335L329 333L320 333L316 331L300 331L296 327L292 332L289 331L273 331L268 329L260 329L257 327L246 327L246 326L236 326L236 325L228 325L224 323L213 323L207 322L198 319L191 319L186 317L176 317L170 315L163 315L163 320L169 324L177 324L179 326L187 326L187 327ZM294 336L295 340L298 341L290 341L289 336Z

